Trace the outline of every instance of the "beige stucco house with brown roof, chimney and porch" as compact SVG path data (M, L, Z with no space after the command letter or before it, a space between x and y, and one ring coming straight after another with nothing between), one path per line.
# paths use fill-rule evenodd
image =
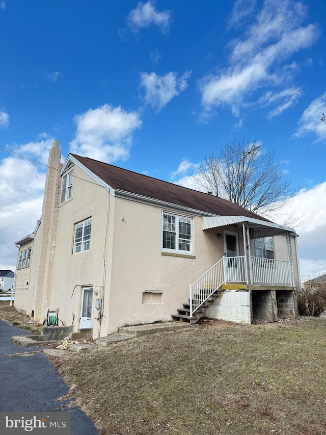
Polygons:
M235 204L50 150L43 210L18 240L15 306L93 337L206 315L297 317L296 234ZM61 323L60 323L61 324Z

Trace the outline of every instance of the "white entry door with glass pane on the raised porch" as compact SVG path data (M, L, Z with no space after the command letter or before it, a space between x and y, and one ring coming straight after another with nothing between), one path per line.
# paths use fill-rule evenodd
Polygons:
M239 235L233 231L224 232L225 280L228 282L240 281L239 265Z

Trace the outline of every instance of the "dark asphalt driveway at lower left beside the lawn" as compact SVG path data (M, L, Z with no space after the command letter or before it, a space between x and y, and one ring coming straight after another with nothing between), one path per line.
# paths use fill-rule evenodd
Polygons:
M43 347L22 347L10 337L28 332L0 320L0 412L71 412L71 435L97 435L93 422L78 407L67 408L68 387L42 352ZM24 352L35 352L22 356ZM9 356L19 353L21 356Z

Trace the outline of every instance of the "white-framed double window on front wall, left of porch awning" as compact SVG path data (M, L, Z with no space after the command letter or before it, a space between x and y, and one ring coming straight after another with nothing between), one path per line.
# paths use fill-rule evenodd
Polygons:
M193 219L162 213L162 251L193 253Z

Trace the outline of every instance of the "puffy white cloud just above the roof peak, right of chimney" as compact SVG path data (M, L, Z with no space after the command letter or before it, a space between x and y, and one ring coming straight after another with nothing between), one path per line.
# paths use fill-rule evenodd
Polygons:
M108 104L76 115L74 122L77 129L70 151L107 163L129 157L132 134L142 126L137 112Z

